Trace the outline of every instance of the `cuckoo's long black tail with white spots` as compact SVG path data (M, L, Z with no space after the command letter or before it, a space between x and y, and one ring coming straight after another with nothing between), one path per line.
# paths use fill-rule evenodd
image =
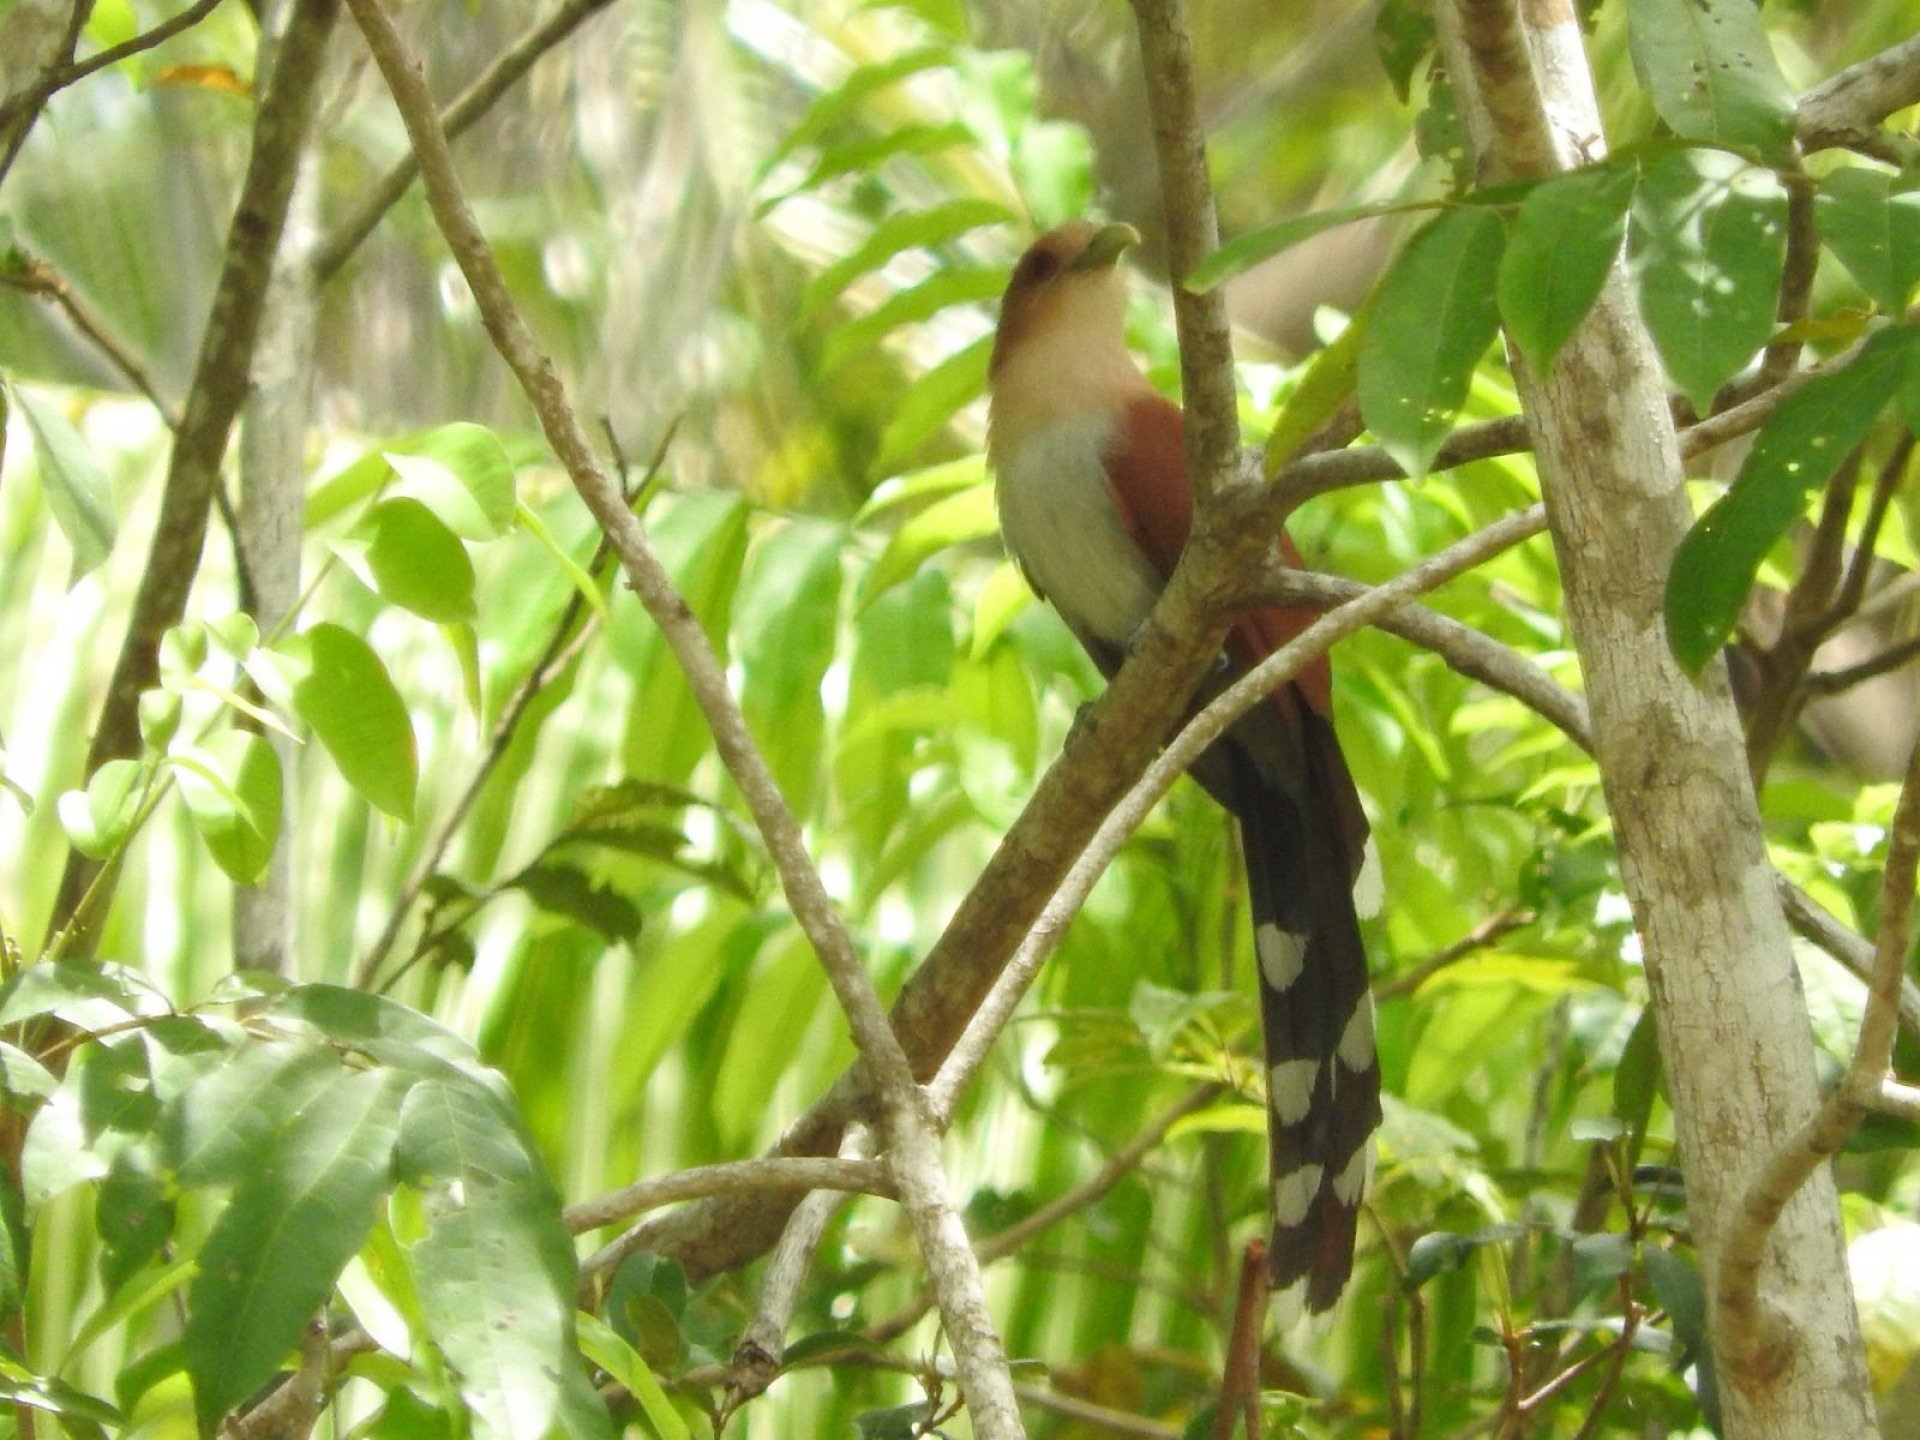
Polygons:
M1354 914L1354 835L1338 799L1352 793L1352 781L1332 728L1313 712L1302 722L1308 783L1281 789L1238 755L1231 808L1246 849L1267 1037L1267 1263L1283 1304L1298 1300L1323 1311L1354 1269L1380 1123L1380 1066Z

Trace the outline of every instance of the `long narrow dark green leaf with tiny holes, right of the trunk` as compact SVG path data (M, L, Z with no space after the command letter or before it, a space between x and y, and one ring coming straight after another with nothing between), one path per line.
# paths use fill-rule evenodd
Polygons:
M1720 649L1766 551L1826 488L1916 359L1920 334L1889 326L1841 371L1809 380L1761 426L1732 488L1693 524L1667 576L1667 643L1690 672Z

